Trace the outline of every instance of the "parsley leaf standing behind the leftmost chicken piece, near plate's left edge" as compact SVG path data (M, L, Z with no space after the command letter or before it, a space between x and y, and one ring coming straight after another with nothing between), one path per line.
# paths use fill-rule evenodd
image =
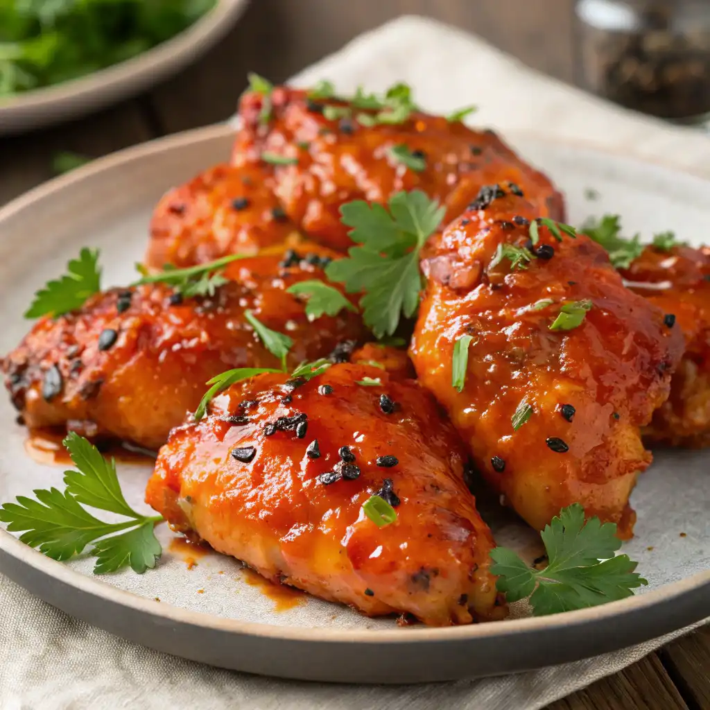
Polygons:
M82 307L89 296L101 290L99 250L80 251L79 258L67 264L67 271L59 280L48 281L35 293L35 298L25 312L26 318L50 315L53 318Z

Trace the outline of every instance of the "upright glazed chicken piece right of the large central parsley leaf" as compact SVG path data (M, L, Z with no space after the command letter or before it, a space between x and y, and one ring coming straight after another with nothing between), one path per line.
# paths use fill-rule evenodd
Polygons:
M667 398L682 335L624 288L586 236L557 242L540 226L536 249L545 245L547 258L525 271L505 259L490 268L499 244L530 246L534 217L531 204L505 195L449 225L422 264L427 291L410 354L488 484L532 527L579 502L630 537L629 494L651 461L639 427ZM550 330L563 302L584 299L593 305L578 327ZM459 393L452 356L464 334L473 340ZM515 431L521 403L532 414Z

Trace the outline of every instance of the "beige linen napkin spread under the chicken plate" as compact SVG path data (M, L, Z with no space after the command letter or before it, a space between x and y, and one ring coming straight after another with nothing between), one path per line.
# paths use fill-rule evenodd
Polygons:
M476 124L664 161L710 175L710 139L590 97L470 35L400 18L295 77L341 90L403 80L437 112L478 103ZM681 633L681 632L679 632ZM163 655L70 618L0 575L0 710L536 710L621 670L670 638L513 676L355 687L248 676Z

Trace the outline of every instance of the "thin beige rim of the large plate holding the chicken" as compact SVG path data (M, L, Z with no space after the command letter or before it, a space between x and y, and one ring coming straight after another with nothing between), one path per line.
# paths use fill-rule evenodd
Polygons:
M238 2L241 0L237 0ZM202 141L212 141L217 139L226 140L234 132L231 126L226 124L216 124L205 126L190 131L182 131L170 136L154 139L137 146L125 148L122 151L111 153L93 160L92 163L84 165L82 168L72 171L67 175L45 182L43 185L16 197L5 207L0 208L0 224L9 219L17 212L27 209L37 200L50 197L55 192L65 190L77 182L89 180L98 173L104 173L133 160L140 160L148 155L178 150L181 146ZM511 142L515 140L533 140L552 145L569 145L566 141L555 141L550 138L542 138L528 133L511 133ZM580 142L582 143L582 142ZM618 158L631 160L640 164L655 165L670 172L680 173L692 177L701 182L705 182L710 190L710 180L695 175L687 170L679 170L672 165L665 163L651 163L634 155L618 154L613 151L603 151L594 143L574 143L577 148L606 153ZM62 562L56 562L46 557L41 552L20 542L16 537L4 529L0 529L0 562L5 558L12 558L23 567L39 572L53 581L67 586L72 586L84 594L89 594L97 601L109 601L119 606L131 608L132 611L145 613L151 618L161 618L163 621L198 626L212 630L234 633L237 635L249 635L258 638L282 639L290 641L321 641L327 643L372 643L378 644L400 644L404 640L408 643L438 643L447 640L476 640L481 638L498 637L501 640L512 638L520 633L532 633L536 630L555 630L571 626L582 627L592 621L609 621L617 616L626 613L640 612L650 609L663 602L680 600L693 592L706 591L710 598L710 569L697 572L689 577L662 585L659 589L648 591L645 594L638 594L620 601L609 602L600 606L579 609L577 611L567 611L565 613L553 614L550 616L526 617L509 619L499 623L479 623L465 626L449 627L422 627L414 628L405 636L398 628L391 629L364 629L353 626L329 628L327 626L307 627L307 626L281 626L273 623L263 623L254 621L242 621L239 619L217 616L214 613L193 611L190 609L173 606L169 603L160 603L155 606L153 599L134 594L131 591L119 589L100 577L89 576L77 572ZM695 609L695 608L694 608ZM686 623L700 621L706 616L706 609L699 606L696 611L687 618ZM692 617L692 618L690 618Z

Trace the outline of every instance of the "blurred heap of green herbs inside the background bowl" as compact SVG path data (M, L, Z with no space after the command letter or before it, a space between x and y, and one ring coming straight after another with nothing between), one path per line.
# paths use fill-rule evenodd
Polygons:
M135 57L215 1L0 0L0 99Z

